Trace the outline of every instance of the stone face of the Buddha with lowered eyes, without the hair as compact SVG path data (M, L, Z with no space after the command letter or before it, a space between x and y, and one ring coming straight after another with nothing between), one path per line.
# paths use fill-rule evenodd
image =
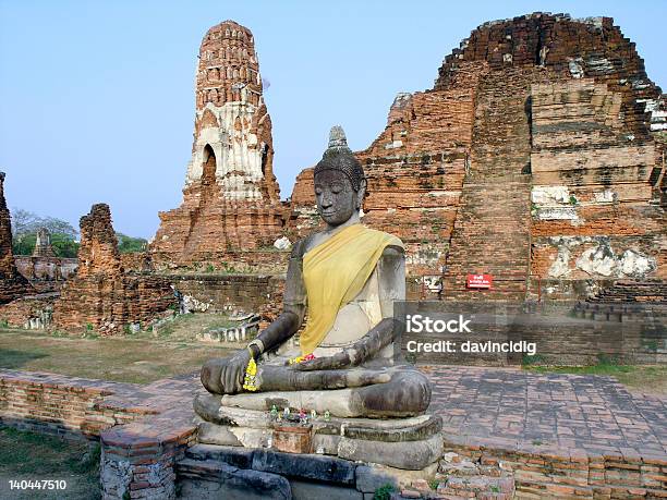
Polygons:
M364 187L354 191L340 170L324 170L315 176L317 211L329 227L340 225L359 212Z

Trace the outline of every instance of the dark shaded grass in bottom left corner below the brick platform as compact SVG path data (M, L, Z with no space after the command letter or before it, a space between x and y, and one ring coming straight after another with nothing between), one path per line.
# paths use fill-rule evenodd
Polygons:
M60 491L9 491L9 479L62 479ZM10 495L10 496L3 496ZM0 426L0 497L99 499L99 443Z

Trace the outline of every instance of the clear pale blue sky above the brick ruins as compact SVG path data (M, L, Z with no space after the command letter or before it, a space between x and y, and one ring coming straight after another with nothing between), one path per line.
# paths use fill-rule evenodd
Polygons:
M614 17L667 90L660 1L0 0L8 203L77 227L105 202L118 231L153 236L182 198L199 42L227 19L255 35L286 198L330 125L365 148L395 95L430 88L473 28L534 11Z

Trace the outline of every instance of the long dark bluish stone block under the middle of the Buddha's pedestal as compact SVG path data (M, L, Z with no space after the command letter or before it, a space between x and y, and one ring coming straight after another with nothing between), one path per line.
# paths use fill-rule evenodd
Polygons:
M331 456L255 450L253 468L289 477L353 485L355 464Z

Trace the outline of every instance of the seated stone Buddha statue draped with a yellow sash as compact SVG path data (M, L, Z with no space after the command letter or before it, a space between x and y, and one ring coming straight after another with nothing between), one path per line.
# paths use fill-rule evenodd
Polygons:
M248 402L244 407L264 398L259 407L266 408L280 393L298 401L295 407L333 408L345 417L420 415L430 402L428 379L395 355L402 324L393 303L405 297L404 246L360 222L366 180L339 126L315 167L314 186L326 227L294 244L282 313L247 349L208 361L202 383L223 403ZM290 339L306 317L296 346ZM203 399L195 410L204 418L214 411Z

